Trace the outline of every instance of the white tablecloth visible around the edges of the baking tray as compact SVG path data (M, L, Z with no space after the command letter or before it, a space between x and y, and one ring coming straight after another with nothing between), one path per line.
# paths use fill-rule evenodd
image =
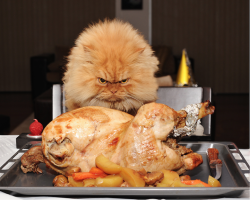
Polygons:
M16 148L16 137L17 135L0 135L0 166L2 166L11 156L13 156L18 149ZM247 162L250 165L250 149L241 149L240 150L244 158L247 160ZM238 197L237 199L244 199L249 200L249 190L243 192L243 194ZM50 196L35 196L35 197L15 197L9 194L6 194L4 192L0 191L0 199L1 200L70 200L74 198L59 198L59 197L50 197ZM79 198L76 198L79 199ZM106 200L116 200L119 198L80 198L80 199L91 199L91 200L100 200L100 199L106 199ZM220 198L222 200L229 200L229 199L236 199L236 198ZM126 199L119 199L119 200L126 200Z

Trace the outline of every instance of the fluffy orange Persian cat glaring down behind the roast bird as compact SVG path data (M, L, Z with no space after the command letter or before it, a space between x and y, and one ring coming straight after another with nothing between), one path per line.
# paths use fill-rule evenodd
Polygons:
M85 29L68 56L66 107L102 106L135 113L157 98L158 59L129 23L105 20Z

